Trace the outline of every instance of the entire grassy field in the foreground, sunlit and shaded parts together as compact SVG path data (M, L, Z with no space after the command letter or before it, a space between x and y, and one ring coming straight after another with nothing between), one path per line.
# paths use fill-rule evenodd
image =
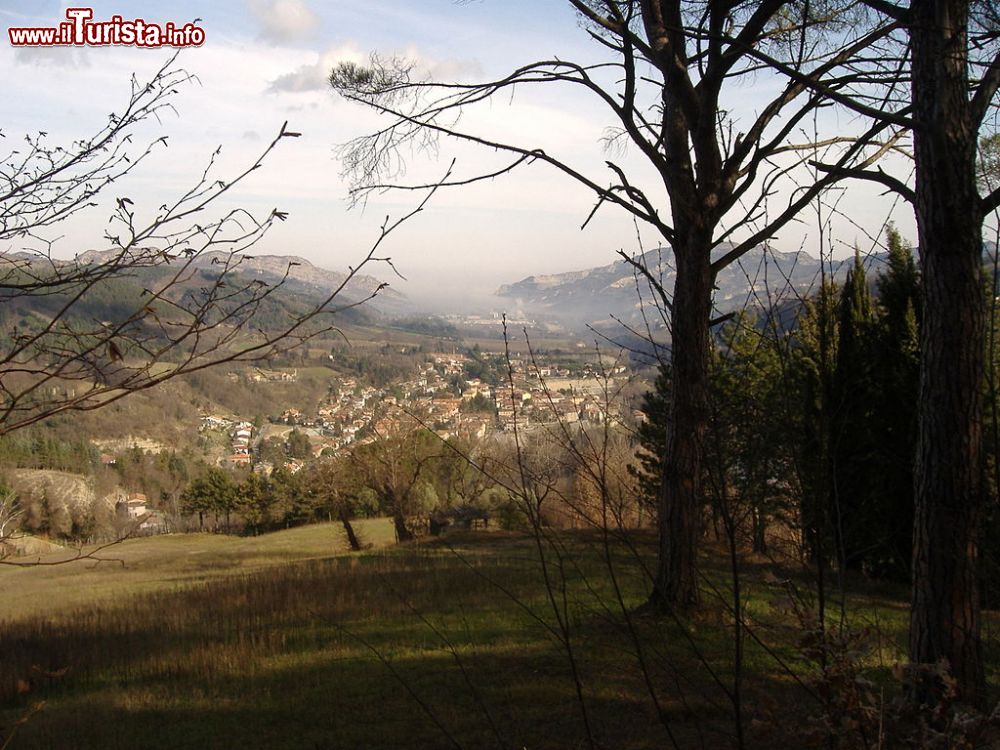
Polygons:
M495 532L347 554L327 525L2 571L0 725L44 701L11 748L737 746L724 556L706 551L690 618L637 614L652 538L626 541ZM741 582L746 746L827 747L806 579L750 560ZM857 637L826 642L828 668L891 689L903 597L859 583L842 610Z

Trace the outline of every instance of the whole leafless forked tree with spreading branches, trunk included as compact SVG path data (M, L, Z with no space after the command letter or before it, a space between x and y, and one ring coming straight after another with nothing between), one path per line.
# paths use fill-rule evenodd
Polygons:
M446 184L469 185L542 162L594 193L590 216L615 206L669 243L677 273L672 298L663 295L663 302L669 306L674 387L651 603L684 607L699 597L696 550L714 279L793 221L842 171L870 166L895 146L901 131L886 120L862 125L851 137L796 140L800 126L832 96L858 84L852 71L859 57L894 27L864 15L844 17L850 4L568 1L584 31L607 53L606 62L539 60L469 85L415 80L410 66L377 57L368 66L336 67L330 82L337 92L388 118L377 132L348 144L345 163L357 180L355 195L362 197L400 187L401 149L436 146L442 137L478 144L512 160L490 174ZM762 62L757 52L780 64ZM739 117L734 97L755 77L775 73L778 93ZM608 182L542 149L463 130L455 117L532 84L580 89L603 104L611 141L637 149L655 170L656 184L640 184L610 159ZM799 168L820 153L831 169L803 178ZM653 269L646 270L655 281Z

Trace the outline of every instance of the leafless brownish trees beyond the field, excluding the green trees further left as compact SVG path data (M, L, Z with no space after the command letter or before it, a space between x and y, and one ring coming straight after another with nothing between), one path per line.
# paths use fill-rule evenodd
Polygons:
M634 452L616 425L447 441L412 425L318 462L312 476L345 526L374 510L393 519L400 541L463 517L506 529L600 528L609 518L635 526L648 513L628 471Z

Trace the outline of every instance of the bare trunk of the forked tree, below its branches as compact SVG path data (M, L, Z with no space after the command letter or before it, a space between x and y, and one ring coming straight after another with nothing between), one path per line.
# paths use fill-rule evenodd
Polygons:
M698 603L701 473L707 420L708 324L712 304L709 247L674 248L677 279L671 315L671 386L667 450L659 500L660 554L651 604Z

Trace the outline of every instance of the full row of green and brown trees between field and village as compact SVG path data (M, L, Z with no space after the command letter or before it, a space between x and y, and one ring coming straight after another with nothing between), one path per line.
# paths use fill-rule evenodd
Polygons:
M648 520L628 471L635 451L628 432L567 436L442 440L414 422L294 472L206 467L181 493L179 511L194 520L189 528L229 533L339 521L355 548L363 540L352 520L373 515L392 518L400 541L462 518L508 529L596 527L609 512L625 526Z

